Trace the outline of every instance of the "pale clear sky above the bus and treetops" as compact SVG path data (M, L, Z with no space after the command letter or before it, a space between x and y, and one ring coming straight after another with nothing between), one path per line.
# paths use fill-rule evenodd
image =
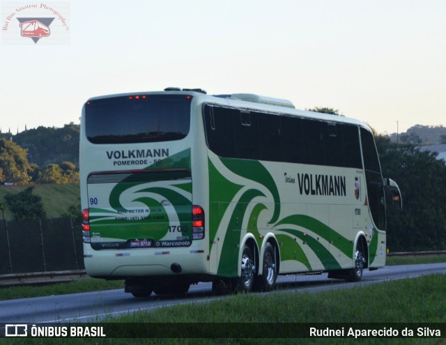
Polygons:
M10 45L11 8L36 3L0 1L2 132L79 123L88 98L167 86L331 107L383 134L446 125L444 0L50 2L64 44Z

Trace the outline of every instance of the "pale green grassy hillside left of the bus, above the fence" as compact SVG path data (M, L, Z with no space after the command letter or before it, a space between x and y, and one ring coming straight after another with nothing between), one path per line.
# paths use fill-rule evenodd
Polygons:
M5 195L22 192L27 187L29 185L0 186L0 203L5 206L4 214L6 220L13 220L14 215L8 210ZM77 184L33 185L33 187L33 194L42 198L47 217L60 217L61 214L68 213L69 206L79 205L79 185ZM79 209L80 212L81 210Z

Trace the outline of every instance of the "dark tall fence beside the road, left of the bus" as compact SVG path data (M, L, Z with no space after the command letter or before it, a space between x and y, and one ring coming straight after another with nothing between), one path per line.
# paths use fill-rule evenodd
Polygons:
M70 218L0 221L0 275L82 269L82 231Z

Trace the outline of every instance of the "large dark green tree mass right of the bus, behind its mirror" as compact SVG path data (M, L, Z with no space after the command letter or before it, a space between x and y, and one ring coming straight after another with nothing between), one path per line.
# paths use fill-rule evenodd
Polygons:
M387 212L392 252L443 250L446 246L446 164L436 153L376 137L383 176L397 181L403 210Z

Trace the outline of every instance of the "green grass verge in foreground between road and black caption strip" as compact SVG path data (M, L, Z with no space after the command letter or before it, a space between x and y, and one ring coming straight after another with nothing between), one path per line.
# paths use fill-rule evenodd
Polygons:
M446 275L429 275L320 293L241 293L192 307L136 312L113 322L438 323L446 321L445 286Z

